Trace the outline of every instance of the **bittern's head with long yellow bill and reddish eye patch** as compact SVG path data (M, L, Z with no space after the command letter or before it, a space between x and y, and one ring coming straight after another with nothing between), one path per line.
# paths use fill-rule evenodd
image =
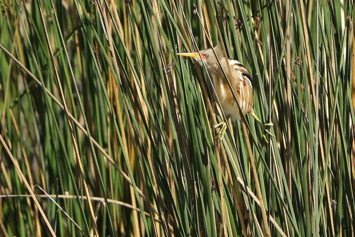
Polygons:
M220 44L216 45L213 49L217 57L214 55L212 48L203 49L199 53L178 53L178 55L194 58L201 66L203 66L203 64L206 65L207 69L217 69L219 68L217 58L220 61L225 61L225 59Z

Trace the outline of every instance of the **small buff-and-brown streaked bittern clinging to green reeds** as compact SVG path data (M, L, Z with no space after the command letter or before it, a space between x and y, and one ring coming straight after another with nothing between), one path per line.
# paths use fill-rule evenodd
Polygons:
M233 93L230 90L228 82L225 80L225 76L222 71L223 69L227 75L228 81L230 82L231 88L237 97L237 101L240 105L242 113L251 114L261 126L263 133L266 131L268 134L273 136L269 131L266 130L268 126L272 126L273 124L263 124L254 112L254 93L251 84L252 79L245 66L243 66L239 61L235 59L228 59L228 62L226 62L220 44L215 46L213 49L217 57L213 53L212 48L204 49L197 53L178 53L178 55L192 57L198 63L200 63L201 66L203 66L203 64L206 66L208 74L211 76L220 105L222 106L223 112L227 115L227 119L230 117L233 120L240 120L241 116L239 113L239 108L236 104ZM222 68L219 66L218 60ZM229 76L230 74L228 67L230 67L231 77ZM220 127L216 139L219 136L219 140L222 140L227 128L226 123L221 122L217 125L214 125L213 127ZM263 134L263 137L266 140L265 134Z

